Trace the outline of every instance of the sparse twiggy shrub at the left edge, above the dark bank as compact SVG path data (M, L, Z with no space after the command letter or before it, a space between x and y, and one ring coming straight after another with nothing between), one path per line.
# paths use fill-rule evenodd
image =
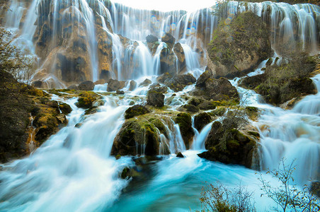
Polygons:
M23 54L22 50L12 45L12 33L0 28L0 69L11 73L21 83L30 84L34 57Z

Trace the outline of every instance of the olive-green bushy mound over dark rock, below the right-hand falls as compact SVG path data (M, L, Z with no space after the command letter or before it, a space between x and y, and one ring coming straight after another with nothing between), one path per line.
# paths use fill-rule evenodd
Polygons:
M255 90L265 96L265 99L278 105L301 95L314 93L315 87L309 79L310 73L316 67L314 57L306 52L295 51L286 55L280 65L267 66L265 80Z

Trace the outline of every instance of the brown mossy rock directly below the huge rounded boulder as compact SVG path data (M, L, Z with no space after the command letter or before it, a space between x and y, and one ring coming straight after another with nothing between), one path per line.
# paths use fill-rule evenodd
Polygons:
M212 78L210 71L205 71L198 78L193 95L207 100L239 102L239 95L227 78Z

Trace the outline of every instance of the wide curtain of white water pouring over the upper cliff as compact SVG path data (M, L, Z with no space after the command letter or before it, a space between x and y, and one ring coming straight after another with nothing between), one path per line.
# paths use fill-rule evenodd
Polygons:
M59 78L59 81L71 81L73 78L64 77L64 74L69 74L64 72L70 68L74 70L72 74L79 75L79 71L82 72L81 77L78 77L79 81L96 81L104 74L103 71L110 71L110 77L119 80L159 74L159 54L164 45L160 43L156 54L152 55L145 45L145 40L147 35L161 38L164 33L170 33L176 38L176 42L183 45L187 69L198 76L205 67L205 55L200 55L198 51L205 49L213 30L217 27L217 17L212 16L212 8L193 12L161 12L130 8L102 0L33 0L30 5L11 0L10 8L6 13L6 27L21 28L18 32L20 37L17 38L20 42L15 44L25 46L25 43L28 43L29 52L40 54L40 66L35 80L43 78L45 72ZM21 16L27 8L28 13L25 17ZM237 12L246 10L254 11L261 16L270 26L271 43L275 52L282 51L280 43L290 41L301 43L302 48L310 54L319 52L319 37L316 33L319 29L319 6L289 5L270 1L231 1L228 10L230 18ZM97 18L101 21L97 21ZM99 28L108 32L108 37L102 37L104 40L97 40ZM78 35L72 34L76 32ZM118 35L129 40L131 44L128 45L128 42L120 39ZM85 42L81 41L83 37ZM43 39L50 42L44 42ZM88 57L89 65L85 69L79 68L85 60L76 59L68 54L70 48L83 47L83 42L86 48L81 54ZM98 46L103 42L112 43L111 54L105 52L108 51L104 49L106 47ZM135 45L134 42L139 45ZM71 60L66 61L69 63L65 64L66 67L58 67L62 69L62 76L59 70L57 71L57 64L64 64L60 54L67 59L71 57ZM91 69L90 73L86 69ZM64 82L54 83L52 86L62 84Z

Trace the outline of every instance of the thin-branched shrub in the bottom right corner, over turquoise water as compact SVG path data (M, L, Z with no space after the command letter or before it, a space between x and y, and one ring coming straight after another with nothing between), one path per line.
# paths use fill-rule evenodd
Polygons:
M278 187L273 187L260 173L258 180L262 184L261 191L277 204L271 208L273 211L320 211L319 199L312 194L307 184L302 190L297 188L292 177L295 171L294 162L295 160L290 165L285 165L285 159L282 159L278 170L267 172L273 175L273 178L278 179L280 182Z

